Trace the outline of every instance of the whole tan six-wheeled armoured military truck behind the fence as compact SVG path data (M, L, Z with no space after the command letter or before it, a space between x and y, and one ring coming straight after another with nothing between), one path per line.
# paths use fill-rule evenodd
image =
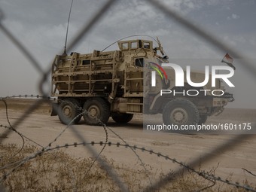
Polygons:
M65 124L78 123L83 116L85 123L98 125L107 123L109 117L117 123L128 123L133 114L160 113L166 124L196 124L205 123L207 117L221 113L224 105L233 101L232 94L224 93L220 79L215 80L214 89L223 90L221 96L212 94L211 78L204 87L190 87L186 80L184 87L176 87L175 72L170 68L165 69L168 79L163 82L156 75L158 86L152 87L151 64L161 66L168 62L158 38L157 47L153 47L153 41L143 39L117 44L119 50L56 55L51 96L57 97L57 103L52 115L58 115ZM205 75L190 72L190 77L202 82ZM197 96L162 94L163 90L182 89L201 91ZM202 90L208 90L207 94ZM82 111L87 112L79 115Z

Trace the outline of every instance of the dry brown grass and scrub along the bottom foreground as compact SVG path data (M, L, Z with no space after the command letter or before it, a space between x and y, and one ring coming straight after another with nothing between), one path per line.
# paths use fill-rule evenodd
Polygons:
M35 154L37 150L34 146L28 145L19 154L14 155L19 151L17 145L0 145L1 176L3 177L5 173L13 169L17 165L16 162ZM3 185L7 191L120 191L114 181L109 178L105 169L100 167L98 163L95 163L92 169L87 172L93 160L92 157L74 158L60 150L48 151L32 160L27 160L23 166L19 166L14 172L11 172ZM106 158L105 160L109 166L114 168L130 191L142 191L150 184L149 179L154 183L154 181L166 176L161 170L153 172L153 167L150 165L145 165L147 169L145 171L142 166L136 169L116 163L114 160ZM211 173L214 174L215 169L212 169ZM156 191L197 191L211 184L211 181L190 172L186 175L179 175L173 182L159 187ZM245 190L221 183L203 191L240 192Z

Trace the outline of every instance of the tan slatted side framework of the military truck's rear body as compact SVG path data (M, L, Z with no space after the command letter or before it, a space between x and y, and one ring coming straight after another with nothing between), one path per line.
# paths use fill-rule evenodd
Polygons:
M57 55L52 65L52 96L84 97L107 94L114 96L120 51L90 54Z

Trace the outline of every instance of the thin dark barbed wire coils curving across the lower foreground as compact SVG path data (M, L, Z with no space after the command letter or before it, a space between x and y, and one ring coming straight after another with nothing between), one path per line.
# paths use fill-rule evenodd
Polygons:
M32 95L30 95L32 96ZM25 96L11 96L11 97L8 97L8 98L26 98L27 95ZM44 98L44 96L32 96L32 97L37 97L37 98L42 98L42 99L52 99L52 100L56 100L54 98L50 98L50 97L47 97L47 98ZM4 102L5 100L2 99ZM62 102L61 100L59 102ZM5 102L5 107L6 107L6 111L8 111L8 104L7 102ZM77 108L81 108L79 106L76 105ZM2 169L7 169L11 166L15 166L13 169L11 169L10 172L7 172L5 173L5 175L3 175L2 177L2 180L0 180L0 182L4 181L6 178L8 178L8 175L11 175L12 172L16 171L18 167L22 166L24 163L27 163L29 160L32 160L32 159L35 159L36 157L38 156L41 156L42 154L48 152L48 151L53 151L53 150L56 150L56 149L59 149L59 148L69 148L69 147L78 147L79 145L84 145L84 146L87 146L87 145L103 145L102 147L102 150L99 152L99 154L94 158L93 160L93 163L90 164L90 167L89 169L87 169L87 172L85 173L85 175L88 174L88 172L90 172L90 169L93 167L93 164L96 162L96 160L99 158L99 155L102 154L102 151L105 149L105 147L108 145L109 147L112 146L112 145L115 145L117 147L120 147L120 146L123 146L125 148L130 148L134 154L136 154L136 157L138 157L138 159L140 160L140 162L142 163L142 166L143 168L145 169L145 172L147 172L147 169L145 168L145 163L142 162L142 159L141 157L139 157L139 154L136 153L136 149L137 150L141 150L142 152L148 152L149 154L155 154L157 155L157 157L164 157L166 160L171 160L172 163L177 163L178 165L180 165L181 167L183 167L184 169L187 169L187 171L190 171L190 172L194 172L196 173L197 175L203 177L203 178L206 178L207 180L209 181L212 181L212 184L207 186L207 187L204 187L200 190L197 190L197 191L202 191L202 190L206 190L207 188L209 187L213 187L215 184L216 184L216 181L221 181L223 183L226 183L226 184L229 184L229 185L233 185L235 187L240 187L240 188L243 188L245 190L249 190L249 191L256 191L253 189L253 187L250 187L248 185L242 185L242 184L239 184L238 182L236 183L233 183L233 182L230 182L228 181L227 179L222 179L216 175L212 175L212 174L209 174L209 172L200 172L200 171L197 171L196 169L190 167L189 165L185 164L185 163L182 163L181 161L178 161L176 160L175 158L171 158L171 157L168 157L167 155L163 155L161 154L160 152L155 152L153 150L148 150L146 149L145 147L138 147L136 145L129 145L120 135L118 135L117 133L114 132L114 130L112 130L110 127L106 126L105 123L102 123L100 120L99 120L99 123L100 125L104 128L105 130L105 135L106 135L106 138L105 138L105 142L81 142L81 143L78 143L78 142L74 142L72 144L68 144L66 143L65 145L56 145L56 147L53 147L52 148L52 145L54 142L57 141L57 139L59 139L63 133L66 132L66 130L69 128L69 126L72 125L72 123L74 122L74 120L78 117L80 117L81 115L83 114L89 114L87 111L83 111L81 114L78 114L73 120L70 121L70 123L66 126L66 128L64 130L62 130L62 132L59 133L58 136L55 137L55 139L53 139L52 142L50 142L46 147L42 148L40 151L36 152L35 154L32 154L30 155L29 157L25 157L23 160L20 160L20 161L17 161L17 162L14 162L14 163L11 163L9 165L5 165L3 167L0 167L0 170ZM8 113L7 113L7 118L8 118ZM3 125L0 125L0 127L5 127L5 128L11 128L11 127L8 127L8 126L3 126ZM121 144L120 142L117 142L117 143L112 143L112 142L108 142L108 132L107 132L107 129L111 131L111 133L114 133L115 136L117 136L124 144ZM11 130L17 132L17 130L15 130L14 128L11 128ZM20 136L23 136L21 133L19 134ZM28 137L26 137L26 139L29 139ZM29 141L31 142L34 142L32 141L32 139L29 139ZM36 142L34 142L35 144L37 144ZM41 145L39 145L41 146ZM20 152L20 151L19 151ZM15 154L16 155L16 154ZM198 162L198 161L197 161ZM244 168L242 168L244 169ZM249 172L247 169L244 169L245 171ZM251 172L249 172L251 173ZM168 174L168 175L171 175L171 174ZM149 175L146 174L146 176L150 179ZM172 178L174 177L174 174L172 172ZM151 180L150 180L151 182ZM156 188L155 188L156 189Z

